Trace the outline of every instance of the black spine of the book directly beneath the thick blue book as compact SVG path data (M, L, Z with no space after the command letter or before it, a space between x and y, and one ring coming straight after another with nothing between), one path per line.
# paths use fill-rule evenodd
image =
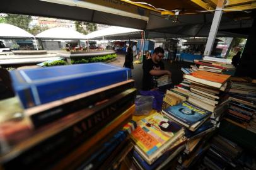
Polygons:
M75 111L93 105L98 101L103 101L104 99L115 96L116 94L119 94L122 91L125 91L133 87L134 82L132 81L127 84L117 86L115 88L107 89L105 91L101 91L99 93L92 94L90 96L86 96L84 98L77 99L69 103L65 103L64 105L50 108L49 110L34 113L30 116L30 119L32 120L34 127L38 128L42 125L45 125L46 123L54 122L54 120L57 120L58 118L69 115L70 113L74 113Z

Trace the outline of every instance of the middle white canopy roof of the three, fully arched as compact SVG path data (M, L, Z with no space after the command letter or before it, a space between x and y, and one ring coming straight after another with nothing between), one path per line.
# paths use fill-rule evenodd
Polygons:
M85 35L78 31L72 30L71 28L57 27L50 28L49 30L42 31L35 36L40 39L50 40L85 40Z

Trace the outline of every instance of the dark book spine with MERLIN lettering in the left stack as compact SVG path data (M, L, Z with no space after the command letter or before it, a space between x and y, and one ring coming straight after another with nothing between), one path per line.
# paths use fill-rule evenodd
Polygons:
M130 108L134 104L135 96L136 91L133 91L124 96L124 98L96 111L93 115L79 120L79 122L52 135L52 137L30 147L20 155L4 162L4 169L15 169L16 167L45 169L45 167L78 147L82 142L90 139L91 135L98 132L98 130L105 127L122 112Z

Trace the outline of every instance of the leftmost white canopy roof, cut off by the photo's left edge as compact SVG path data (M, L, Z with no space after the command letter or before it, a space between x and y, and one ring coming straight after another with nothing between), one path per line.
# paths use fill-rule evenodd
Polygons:
M18 26L0 23L0 37L1 38L34 38L31 33L22 30Z

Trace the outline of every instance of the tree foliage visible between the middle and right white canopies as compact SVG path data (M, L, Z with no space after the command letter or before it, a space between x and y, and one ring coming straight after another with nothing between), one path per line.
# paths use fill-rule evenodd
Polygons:
M95 23L88 23L84 21L75 21L76 31L83 33L84 35L97 30L97 25Z

